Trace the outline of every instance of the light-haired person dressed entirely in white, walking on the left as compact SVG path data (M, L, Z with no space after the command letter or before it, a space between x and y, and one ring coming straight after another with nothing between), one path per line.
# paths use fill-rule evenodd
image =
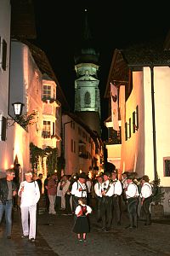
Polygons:
M25 173L26 181L20 183L18 195L21 197L20 212L23 236L30 241L36 239L37 202L40 199L40 190L37 181L32 180L32 173Z

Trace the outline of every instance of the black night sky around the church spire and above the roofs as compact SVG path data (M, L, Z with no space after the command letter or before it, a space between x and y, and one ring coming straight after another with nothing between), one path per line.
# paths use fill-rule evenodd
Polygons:
M114 49L122 49L154 38L166 38L169 30L168 8L163 1L144 3L119 0L115 3L107 0L35 0L34 5L36 44L48 56L72 110L76 79L74 54L81 44L84 9L88 9L88 25L100 53L99 89L102 119L107 117L102 95L105 92Z

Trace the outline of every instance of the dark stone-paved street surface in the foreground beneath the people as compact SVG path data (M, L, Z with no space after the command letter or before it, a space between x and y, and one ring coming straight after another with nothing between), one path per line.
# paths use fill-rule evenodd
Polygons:
M12 239L4 237L4 222L0 226L0 256L170 256L170 218L152 219L150 226L139 220L137 230L126 230L127 212L122 212L122 224L112 224L109 232L100 230L95 211L90 215L91 230L87 241L78 241L71 230L73 216L57 215L41 211L37 221L35 243L23 240L20 224L20 209L14 212Z

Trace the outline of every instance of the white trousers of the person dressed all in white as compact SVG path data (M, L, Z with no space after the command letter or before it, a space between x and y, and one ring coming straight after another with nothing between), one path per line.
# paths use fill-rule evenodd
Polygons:
M29 236L29 239L35 239L37 224L37 204L31 207L20 207L20 212L23 235Z

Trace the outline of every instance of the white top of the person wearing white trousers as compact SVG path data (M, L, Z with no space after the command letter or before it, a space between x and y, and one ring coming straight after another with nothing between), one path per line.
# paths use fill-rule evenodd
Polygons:
M37 181L28 183L23 181L20 183L20 189L24 187L23 192L21 192L20 207L31 207L37 204L40 199L40 190ZM20 189L18 195L20 196Z

